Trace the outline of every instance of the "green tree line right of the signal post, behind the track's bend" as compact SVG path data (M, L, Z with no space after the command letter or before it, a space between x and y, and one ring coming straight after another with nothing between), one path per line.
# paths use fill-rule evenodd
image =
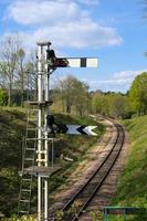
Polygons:
M147 73L135 77L126 94L116 92L88 92L88 85L70 75L59 80L54 99L61 112L81 116L101 114L114 118L130 118L147 114Z

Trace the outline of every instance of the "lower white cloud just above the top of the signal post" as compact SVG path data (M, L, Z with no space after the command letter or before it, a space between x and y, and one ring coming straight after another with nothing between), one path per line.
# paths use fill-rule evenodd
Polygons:
M55 27L44 27L34 32L21 32L21 34L29 44L48 39L56 46L78 49L101 48L123 42L114 29L101 27L91 20L69 22L64 27L59 23Z

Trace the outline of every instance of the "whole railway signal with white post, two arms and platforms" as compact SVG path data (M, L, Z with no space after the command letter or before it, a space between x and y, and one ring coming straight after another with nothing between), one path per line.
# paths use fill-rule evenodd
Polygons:
M38 101L31 102L31 105L38 106L38 130L35 140L38 145L38 221L49 220L49 177L52 173L52 168L49 166L49 143L54 140L55 133L71 134L71 135L93 135L96 126L87 125L65 125L55 124L54 117L50 115L50 75L57 67L96 67L98 62L94 57L56 57L53 50L50 49L51 42L38 42ZM54 130L54 125L56 131ZM42 128L44 128L42 133ZM43 136L42 136L43 134ZM50 136L49 136L50 135ZM35 149L35 148L33 148ZM29 150L32 150L30 148ZM35 150L34 150L35 151ZM30 158L29 158L30 159ZM42 175L46 172L46 176ZM24 200L23 200L24 201ZM30 206L30 202L29 202ZM29 208L28 206L28 208ZM23 211L22 211L23 212ZM29 213L29 212L28 212Z

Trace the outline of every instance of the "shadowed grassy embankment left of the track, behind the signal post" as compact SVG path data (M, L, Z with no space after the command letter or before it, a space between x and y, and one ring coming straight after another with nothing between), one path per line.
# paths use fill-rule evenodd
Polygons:
M104 126L91 118L80 118L71 115L55 115L59 123L97 125L97 137L60 135L60 143L55 143L55 158L62 170L53 176L50 182L50 193L61 183L76 165L84 158L85 151L104 133ZM27 114L24 109L3 108L0 112L0 212L10 215L17 212L20 177L18 171L22 164L22 137L25 135ZM73 159L73 162L61 161L63 154ZM36 181L36 180L35 180ZM34 191L36 186L34 185ZM34 203L35 203L34 198Z

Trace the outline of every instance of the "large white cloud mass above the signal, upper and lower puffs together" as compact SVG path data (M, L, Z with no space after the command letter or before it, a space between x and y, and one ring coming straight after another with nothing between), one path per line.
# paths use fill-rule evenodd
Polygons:
M30 25L30 32L21 31L28 45L40 40L50 40L64 48L101 48L123 43L114 28L99 25L91 10L82 8L83 0L17 0L10 4L6 18ZM98 0L86 0L98 3Z

